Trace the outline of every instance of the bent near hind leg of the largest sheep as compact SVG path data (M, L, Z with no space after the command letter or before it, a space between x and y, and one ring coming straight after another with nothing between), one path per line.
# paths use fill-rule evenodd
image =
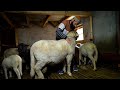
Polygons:
M44 65L45 65L45 63L41 63L40 61L38 61L35 65L35 72L38 75L38 79L44 79L44 75L41 71L41 69Z

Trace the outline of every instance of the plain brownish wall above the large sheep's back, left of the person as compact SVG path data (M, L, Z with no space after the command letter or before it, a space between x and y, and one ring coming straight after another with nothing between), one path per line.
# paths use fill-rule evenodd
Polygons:
M29 28L17 28L18 43L32 45L38 40L55 40L56 28L47 23L46 27L42 28L39 25L30 25Z

